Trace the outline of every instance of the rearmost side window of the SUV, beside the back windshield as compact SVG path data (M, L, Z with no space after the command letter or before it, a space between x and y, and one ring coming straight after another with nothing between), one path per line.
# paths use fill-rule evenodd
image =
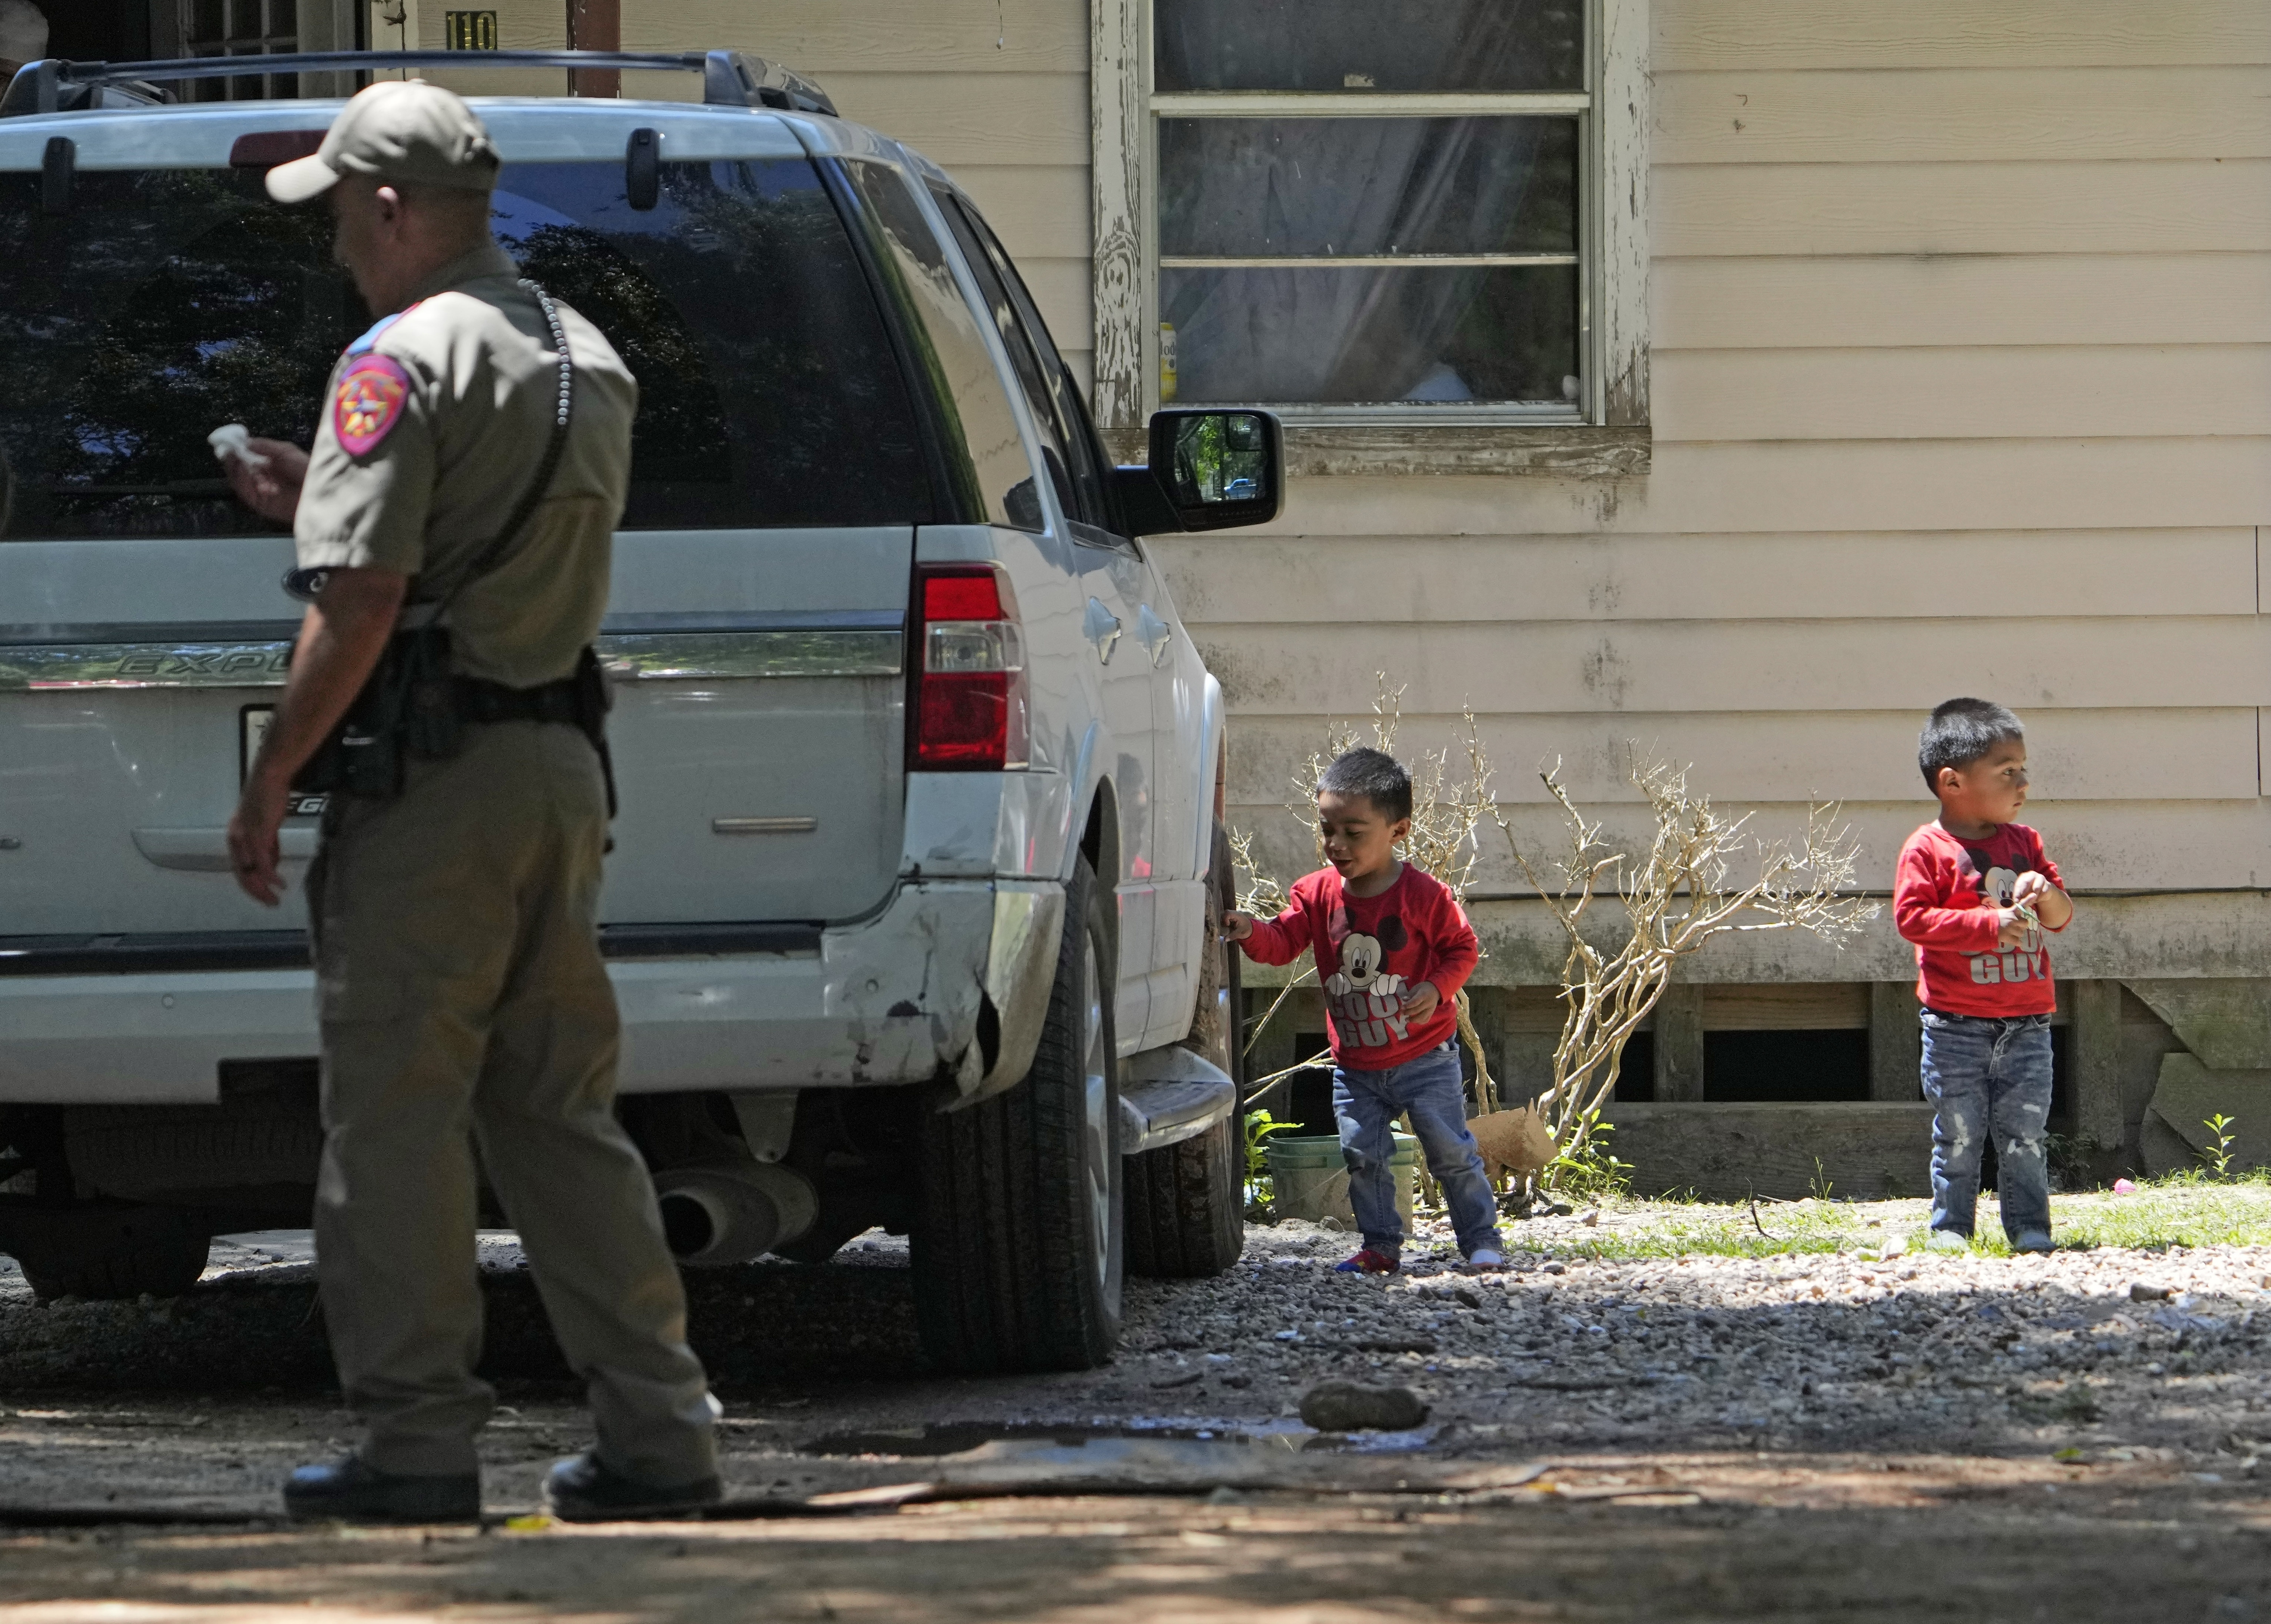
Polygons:
M852 186L881 236L886 275L913 318L913 338L929 370L933 393L952 411L967 466L958 477L974 482L986 518L1017 529L1040 529L1040 497L1033 495L1033 463L1017 432L1002 372L979 332L961 284L947 268L947 252L931 234L899 170L886 164L845 164Z

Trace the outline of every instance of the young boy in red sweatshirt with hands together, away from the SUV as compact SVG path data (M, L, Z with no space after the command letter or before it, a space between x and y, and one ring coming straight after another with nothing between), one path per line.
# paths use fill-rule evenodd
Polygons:
M1924 1097L1933 1102L1935 1252L1964 1252L1994 1133L2003 1231L2051 1249L2051 952L2073 904L2026 806L2026 729L1987 700L1949 700L1917 747L1939 818L1908 836L1892 915L1917 945Z

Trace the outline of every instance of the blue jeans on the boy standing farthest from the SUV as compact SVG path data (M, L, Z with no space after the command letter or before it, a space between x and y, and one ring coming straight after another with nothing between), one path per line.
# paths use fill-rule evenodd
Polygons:
M1924 1097L1935 1106L1933 1229L1971 1233L1980 1152L1994 1133L2003 1233L2014 1242L2028 1229L2048 1233L2051 1018L1924 1011Z

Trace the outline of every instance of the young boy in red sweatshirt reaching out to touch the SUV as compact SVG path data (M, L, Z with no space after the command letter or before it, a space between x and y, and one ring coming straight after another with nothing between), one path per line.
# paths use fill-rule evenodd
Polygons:
M1363 1249L1342 1274L1394 1274L1403 1258L1392 1124L1406 1111L1442 1188L1469 1270L1506 1267L1499 1204L1467 1131L1453 997L1481 949L1458 897L1397 859L1413 829L1413 779L1381 750L1351 750L1317 781L1331 868L1294 881L1274 920L1231 911L1222 934L1247 959L1285 965L1308 947L1333 1036L1333 1115Z

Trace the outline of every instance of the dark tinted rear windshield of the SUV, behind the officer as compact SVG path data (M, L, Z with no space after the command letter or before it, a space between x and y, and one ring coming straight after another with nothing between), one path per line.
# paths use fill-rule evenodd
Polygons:
M329 211L257 170L82 170L68 216L0 175L0 445L9 536L266 529L218 477L223 422L307 445L370 323ZM922 441L874 295L804 159L516 164L497 241L609 336L640 384L625 529L908 525Z

